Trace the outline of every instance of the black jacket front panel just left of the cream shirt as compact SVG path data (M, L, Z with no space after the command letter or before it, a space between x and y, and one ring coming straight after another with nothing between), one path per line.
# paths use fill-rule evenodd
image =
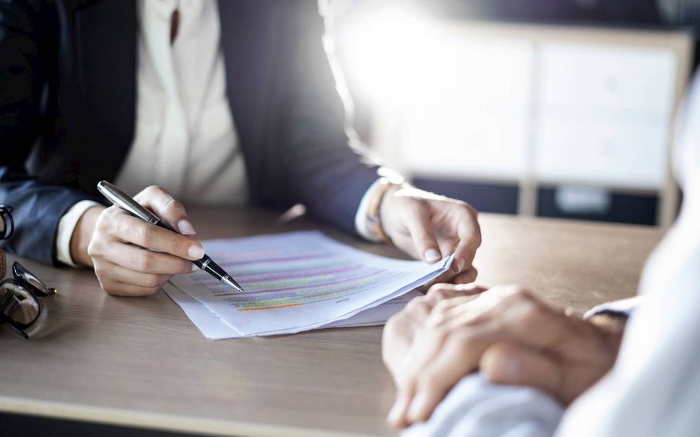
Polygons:
M137 99L135 0L86 1L74 10L76 74L83 98L85 145L80 185L113 180L134 138Z

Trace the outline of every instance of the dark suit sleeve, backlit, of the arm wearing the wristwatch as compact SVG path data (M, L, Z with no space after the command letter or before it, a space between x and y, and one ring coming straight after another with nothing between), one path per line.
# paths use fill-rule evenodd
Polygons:
M321 12L324 3L320 2ZM284 147L274 166L277 175L270 177L276 178L288 200L353 232L360 201L377 180L377 165L346 127L346 108L336 87L339 79L342 89L342 78L324 22L330 17L319 13L319 3L313 0L288 4L292 10L280 55L286 57L281 64L290 69L280 72L283 114L278 119Z

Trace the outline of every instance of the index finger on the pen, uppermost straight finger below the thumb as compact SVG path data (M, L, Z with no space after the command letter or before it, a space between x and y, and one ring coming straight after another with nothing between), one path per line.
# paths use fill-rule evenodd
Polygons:
M198 241L163 229L127 214L114 214L111 235L142 248L158 250L184 259L204 257L204 247Z

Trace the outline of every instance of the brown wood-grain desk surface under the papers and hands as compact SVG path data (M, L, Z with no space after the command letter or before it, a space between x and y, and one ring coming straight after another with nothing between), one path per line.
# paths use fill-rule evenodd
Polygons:
M201 209L191 218L200 238L314 226L244 209ZM577 311L633 295L661 238L647 227L498 215L479 221L479 283L519 282ZM162 292L108 296L91 271L22 262L60 294L48 298L48 317L31 340L0 329L0 410L211 434L393 434L384 424L393 386L381 364L381 327L209 341Z

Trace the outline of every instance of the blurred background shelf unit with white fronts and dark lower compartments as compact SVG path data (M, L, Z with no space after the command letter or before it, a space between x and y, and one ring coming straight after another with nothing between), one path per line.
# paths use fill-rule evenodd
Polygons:
M360 134L385 164L478 210L673 221L669 146L692 29L463 20L411 2L360 13L358 3L339 13L336 52Z

